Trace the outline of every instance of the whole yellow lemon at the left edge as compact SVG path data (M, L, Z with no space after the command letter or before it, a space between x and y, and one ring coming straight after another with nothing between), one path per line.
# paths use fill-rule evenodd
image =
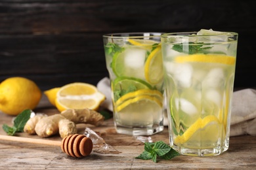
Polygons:
M25 109L35 109L42 93L37 84L28 78L11 77L0 84L0 110L16 116Z

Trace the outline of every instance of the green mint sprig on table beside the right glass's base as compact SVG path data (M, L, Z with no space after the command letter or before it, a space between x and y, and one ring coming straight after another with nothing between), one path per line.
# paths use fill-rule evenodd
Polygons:
M158 159L171 160L180 154L171 148L168 144L163 143L163 141L158 141L156 143L145 143L144 152L137 156L137 159L141 160L153 160L158 162Z

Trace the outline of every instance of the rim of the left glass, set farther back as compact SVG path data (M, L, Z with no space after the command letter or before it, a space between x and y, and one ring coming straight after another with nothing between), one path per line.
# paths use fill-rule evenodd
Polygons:
M107 33L102 35L104 38L112 39L142 39L142 38L152 38L161 37L163 33L161 32L127 32L127 33Z

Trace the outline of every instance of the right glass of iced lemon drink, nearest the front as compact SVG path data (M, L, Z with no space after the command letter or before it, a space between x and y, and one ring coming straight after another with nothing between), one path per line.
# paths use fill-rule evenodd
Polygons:
M169 140L183 155L228 149L237 43L231 32L161 36Z

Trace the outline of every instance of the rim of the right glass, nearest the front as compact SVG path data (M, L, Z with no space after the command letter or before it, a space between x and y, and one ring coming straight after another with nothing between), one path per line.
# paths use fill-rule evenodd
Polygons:
M161 35L162 38L169 38L169 37L217 37L217 36L235 36L238 35L236 32L232 31L223 31L223 34L218 35L196 35L198 31L189 31L189 32L175 32L175 33L163 33Z

